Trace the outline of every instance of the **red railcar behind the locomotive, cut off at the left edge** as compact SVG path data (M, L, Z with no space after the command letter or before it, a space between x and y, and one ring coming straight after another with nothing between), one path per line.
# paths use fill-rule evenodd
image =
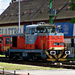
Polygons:
M6 36L6 34L0 34L0 54L4 54L11 46L11 37Z

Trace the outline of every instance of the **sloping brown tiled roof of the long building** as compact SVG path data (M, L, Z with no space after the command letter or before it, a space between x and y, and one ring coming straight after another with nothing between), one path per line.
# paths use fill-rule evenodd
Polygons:
M20 2L20 21L49 20L49 0L27 0ZM56 19L75 17L75 11L69 10L69 0L54 0L53 8L57 10ZM60 11L60 12L59 12ZM0 24L18 23L18 2L13 2L0 16Z

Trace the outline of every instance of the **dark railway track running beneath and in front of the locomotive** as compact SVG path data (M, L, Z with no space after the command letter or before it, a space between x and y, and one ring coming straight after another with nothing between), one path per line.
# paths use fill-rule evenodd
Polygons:
M53 67L53 68L66 68L75 69L75 61L66 62L43 62L43 61L24 61L24 60L10 60L9 58L0 57L0 62L15 63L15 64L25 64L25 65L35 65L43 67Z

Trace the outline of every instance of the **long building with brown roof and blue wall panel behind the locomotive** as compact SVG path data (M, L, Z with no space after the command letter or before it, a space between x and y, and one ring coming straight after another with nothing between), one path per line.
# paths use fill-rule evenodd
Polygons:
M75 43L75 24L69 23L69 21L75 17L75 11L69 10L69 4L69 0L54 0L53 8L56 9L57 14L54 24L56 26L61 25L61 32L64 33L65 39L71 46L72 41ZM18 6L19 2L15 0L0 15L0 34L18 33ZM26 31L26 25L37 24L38 22L49 23L49 15L49 0L21 0L20 32Z

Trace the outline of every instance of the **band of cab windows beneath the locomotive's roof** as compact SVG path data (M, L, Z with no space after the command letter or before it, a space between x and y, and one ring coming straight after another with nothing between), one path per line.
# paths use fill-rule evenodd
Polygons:
M30 27L26 29L27 34L34 34L34 33L54 33L55 27L54 26L37 26L37 27Z

